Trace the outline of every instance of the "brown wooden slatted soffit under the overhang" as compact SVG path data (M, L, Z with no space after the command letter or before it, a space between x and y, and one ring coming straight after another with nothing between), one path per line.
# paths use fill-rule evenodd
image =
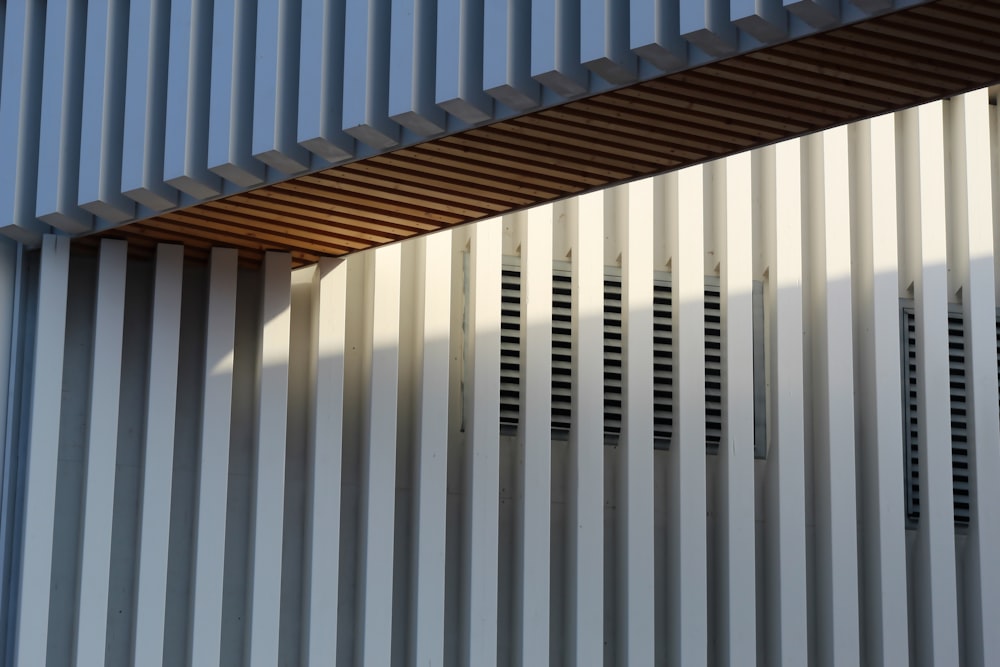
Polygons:
M937 0L105 235L140 253L167 241L306 264L997 80L1000 0Z

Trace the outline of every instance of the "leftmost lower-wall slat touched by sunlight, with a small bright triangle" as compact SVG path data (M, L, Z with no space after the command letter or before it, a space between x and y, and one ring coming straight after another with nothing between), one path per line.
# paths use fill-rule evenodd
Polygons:
M208 275L198 505L194 517L191 646L188 656L192 665L206 667L217 664L221 655L237 260L236 250L213 248Z

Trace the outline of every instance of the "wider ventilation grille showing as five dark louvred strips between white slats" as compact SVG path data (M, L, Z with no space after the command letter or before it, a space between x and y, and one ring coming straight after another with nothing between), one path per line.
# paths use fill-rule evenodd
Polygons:
M712 279L709 278L709 281ZM521 383L521 272L503 270L500 349L500 425L517 430ZM572 421L572 281L552 276L552 437L568 437ZM705 288L705 439L710 453L722 438L722 323L717 285ZM673 430L673 317L670 283L653 285L653 435L669 446ZM604 435L615 444L622 428L622 282L604 279Z

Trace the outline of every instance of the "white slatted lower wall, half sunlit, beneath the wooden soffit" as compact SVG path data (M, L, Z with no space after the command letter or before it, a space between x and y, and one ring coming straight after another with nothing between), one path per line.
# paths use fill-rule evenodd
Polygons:
M149 262L46 237L23 320L27 435L11 440L29 464L5 655L1000 663L997 119L979 91L296 271L281 254L250 271L231 250L204 266L176 246ZM516 434L499 413L505 256L522 273ZM554 261L572 275L572 426L557 441ZM623 290L612 445L608 266ZM654 449L664 273L673 425ZM723 332L711 455L706 275ZM918 521L901 299L919 340ZM950 303L968 359L958 523Z

